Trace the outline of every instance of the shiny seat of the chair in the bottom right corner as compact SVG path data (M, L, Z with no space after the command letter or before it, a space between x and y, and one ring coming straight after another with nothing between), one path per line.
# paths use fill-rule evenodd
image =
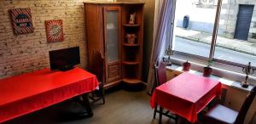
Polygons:
M207 112L204 116L204 121L207 121L209 124L234 124L237 116L237 111L218 104Z

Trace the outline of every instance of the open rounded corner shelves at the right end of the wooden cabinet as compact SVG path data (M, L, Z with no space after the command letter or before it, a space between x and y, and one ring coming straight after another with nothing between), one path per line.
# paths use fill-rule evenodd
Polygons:
M142 82L143 68L143 5L123 4L122 9L122 78L130 85ZM136 14L135 24L129 24L130 14ZM135 34L134 42L128 42L127 34Z

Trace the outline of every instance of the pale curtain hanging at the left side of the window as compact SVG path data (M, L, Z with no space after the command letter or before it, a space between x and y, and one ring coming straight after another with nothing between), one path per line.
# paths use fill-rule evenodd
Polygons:
M176 0L155 0L153 46L148 72L148 93L154 85L154 63L162 58L165 46L172 47Z

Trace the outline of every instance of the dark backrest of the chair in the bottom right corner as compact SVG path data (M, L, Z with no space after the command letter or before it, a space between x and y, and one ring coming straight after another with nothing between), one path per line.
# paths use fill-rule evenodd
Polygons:
M254 86L253 89L251 90L251 92L248 93L247 99L245 99L245 101L241 105L241 109L240 109L239 114L236 118L235 124L242 124L243 123L243 121L245 119L245 116L247 116L247 111L249 110L251 104L253 103L255 93L256 93L256 86Z

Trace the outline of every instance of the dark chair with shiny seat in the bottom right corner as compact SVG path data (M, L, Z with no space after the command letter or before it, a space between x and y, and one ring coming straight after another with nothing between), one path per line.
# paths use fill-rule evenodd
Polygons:
M255 97L256 87L247 95L239 112L231 110L224 105L217 104L203 117L205 124L243 124L247 110L249 110Z

